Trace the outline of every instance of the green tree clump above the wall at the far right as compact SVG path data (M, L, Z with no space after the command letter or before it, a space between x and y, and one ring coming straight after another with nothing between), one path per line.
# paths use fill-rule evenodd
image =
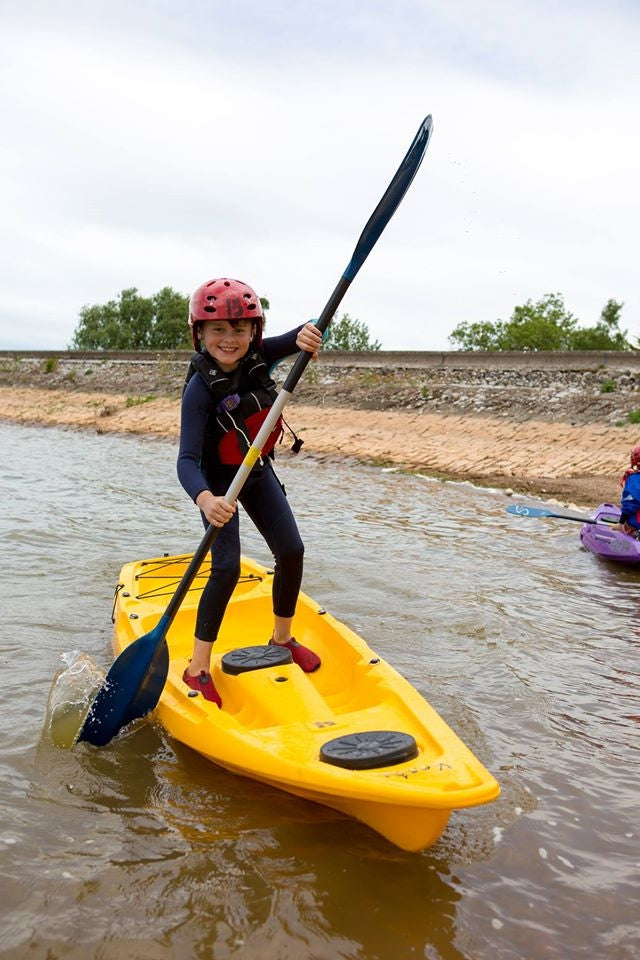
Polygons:
M594 327L578 327L560 293L515 307L509 320L459 323L449 340L460 350L631 350L618 324L623 304L607 301Z

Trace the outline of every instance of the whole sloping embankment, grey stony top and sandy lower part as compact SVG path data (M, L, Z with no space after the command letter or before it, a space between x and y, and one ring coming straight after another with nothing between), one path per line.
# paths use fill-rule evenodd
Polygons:
M403 355L407 356L407 355ZM185 357L2 357L0 418L176 436ZM617 500L640 439L640 363L563 369L332 363L286 416L304 454L350 456L564 503ZM640 416L640 415L639 415ZM303 454L303 455L304 455Z

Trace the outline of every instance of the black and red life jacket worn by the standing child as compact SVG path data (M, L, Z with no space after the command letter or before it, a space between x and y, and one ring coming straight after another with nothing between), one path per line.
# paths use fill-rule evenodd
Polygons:
M278 395L264 357L257 350L250 350L238 368L227 374L220 370L209 353L194 353L183 393L195 373L206 383L214 398L215 415L210 418L209 427L217 440L218 459L225 464L242 463ZM241 381L245 389L247 381L250 383L250 389L242 394L238 392ZM282 422L279 417L262 448L263 455L273 455L273 448L283 434Z

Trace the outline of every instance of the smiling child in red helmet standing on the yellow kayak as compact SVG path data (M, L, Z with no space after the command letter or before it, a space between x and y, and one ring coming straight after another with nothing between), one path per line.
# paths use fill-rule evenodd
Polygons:
M224 499L251 440L276 397L269 370L283 357L306 350L317 357L322 334L312 324L262 339L263 314L256 293L239 280L210 280L189 303L189 326L198 351L182 397L178 478L200 508L205 528L220 527L211 555L211 575L196 617L193 656L183 680L219 707L210 673L211 650L240 575L240 530L236 504ZM238 499L275 559L273 634L307 673L320 658L291 636L302 583L304 546L284 487L268 454L281 427L272 432Z

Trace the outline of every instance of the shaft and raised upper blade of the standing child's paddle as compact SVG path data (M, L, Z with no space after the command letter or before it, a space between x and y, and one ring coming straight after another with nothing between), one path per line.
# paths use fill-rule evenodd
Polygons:
M335 290L327 300L322 313L316 321L316 327L321 333L324 333L331 323L331 319L338 309L342 298L349 289L351 281L354 279L360 270L360 267L373 250L373 247L382 234L382 231L388 224L389 220L400 205L400 201L409 189L413 178L415 177L420 164L422 163L429 140L431 139L432 130L433 121L431 116L425 117L418 128L418 132L416 133L411 146L407 150L404 160L398 167L395 176L385 190L382 199L371 214L364 230L360 234L360 238L355 246L351 260L347 264L347 267L340 277ZM262 448L275 429L276 424L280 419L280 414L291 399L291 394L293 393L302 374L306 370L310 359L311 354L306 350L301 350L296 357L296 360L294 361L293 366L291 367L291 370L289 371L289 374L281 390L279 391L278 396L276 397L275 403L270 408L269 414L264 420L255 439L251 443L251 446L245 454L245 457L240 464L235 477L231 481L231 484L224 495L224 499L227 501L227 503L233 504L238 499L240 491L242 490L247 477L251 473L256 461L259 459L262 453ZM220 530L220 527L214 527L213 525L210 525L207 528L207 531L202 538L200 545L193 554L191 562L185 570L182 580L178 584L173 597L169 601L165 614L162 618L165 632L173 622L173 618L175 617L180 605L182 604L182 601L187 595L189 587L191 586L193 579L200 569L207 553L215 543L216 537L220 533Z

